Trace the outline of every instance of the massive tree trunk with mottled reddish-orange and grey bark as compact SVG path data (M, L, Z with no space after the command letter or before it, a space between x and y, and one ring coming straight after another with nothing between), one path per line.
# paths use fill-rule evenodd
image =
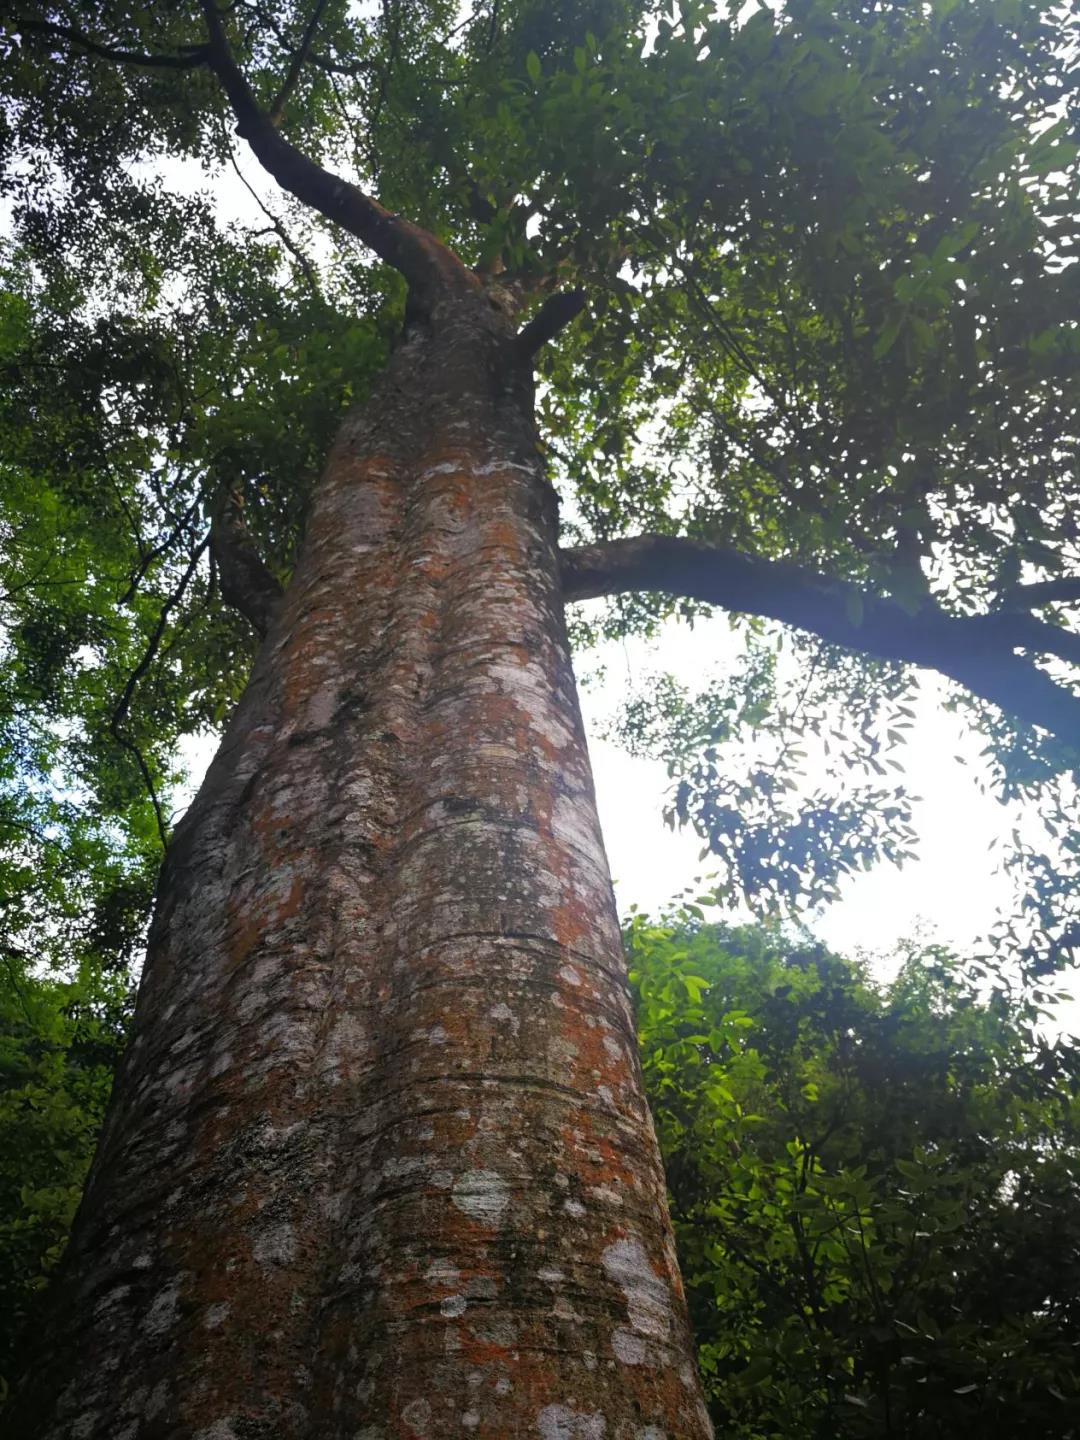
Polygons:
M19 1440L700 1440L508 320L333 451L161 880Z

